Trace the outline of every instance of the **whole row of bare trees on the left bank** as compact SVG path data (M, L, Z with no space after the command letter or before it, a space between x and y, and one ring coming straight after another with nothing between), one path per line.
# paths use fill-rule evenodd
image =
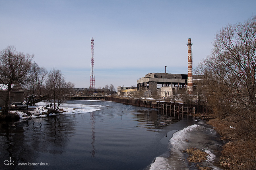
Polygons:
M53 109L57 111L63 102L61 96L68 93L75 84L66 82L60 70L47 71L39 67L32 59L34 55L17 52L13 46L8 46L0 52L0 83L7 86L7 93L3 97L5 107L2 115L8 114L11 89L14 84L20 84L25 91L28 105L43 100L53 101Z

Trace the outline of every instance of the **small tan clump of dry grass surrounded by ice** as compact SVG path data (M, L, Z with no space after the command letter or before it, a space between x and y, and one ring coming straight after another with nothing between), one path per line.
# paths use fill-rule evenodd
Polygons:
M188 147L184 152L187 152L189 157L187 158L188 162L202 162L207 160L206 156L209 155L204 151L199 150L198 148Z

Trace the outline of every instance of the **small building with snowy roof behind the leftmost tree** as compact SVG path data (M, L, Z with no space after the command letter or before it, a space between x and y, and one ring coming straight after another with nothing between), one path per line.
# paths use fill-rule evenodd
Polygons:
M5 105L5 99L7 96L7 85L0 84L0 106ZM19 84L13 84L11 93L10 93L10 100L9 103L13 102L21 102L24 101L24 90Z

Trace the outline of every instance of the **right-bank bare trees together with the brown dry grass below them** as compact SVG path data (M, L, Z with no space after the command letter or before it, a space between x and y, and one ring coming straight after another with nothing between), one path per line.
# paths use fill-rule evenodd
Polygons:
M195 69L197 94L218 116L211 123L229 141L221 165L256 169L256 16L216 33L211 54Z

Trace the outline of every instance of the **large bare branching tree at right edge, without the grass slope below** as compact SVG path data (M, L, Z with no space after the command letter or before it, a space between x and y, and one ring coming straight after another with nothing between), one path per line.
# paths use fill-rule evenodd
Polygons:
M210 56L199 65L213 111L230 121L245 121L256 131L256 16L223 27Z

